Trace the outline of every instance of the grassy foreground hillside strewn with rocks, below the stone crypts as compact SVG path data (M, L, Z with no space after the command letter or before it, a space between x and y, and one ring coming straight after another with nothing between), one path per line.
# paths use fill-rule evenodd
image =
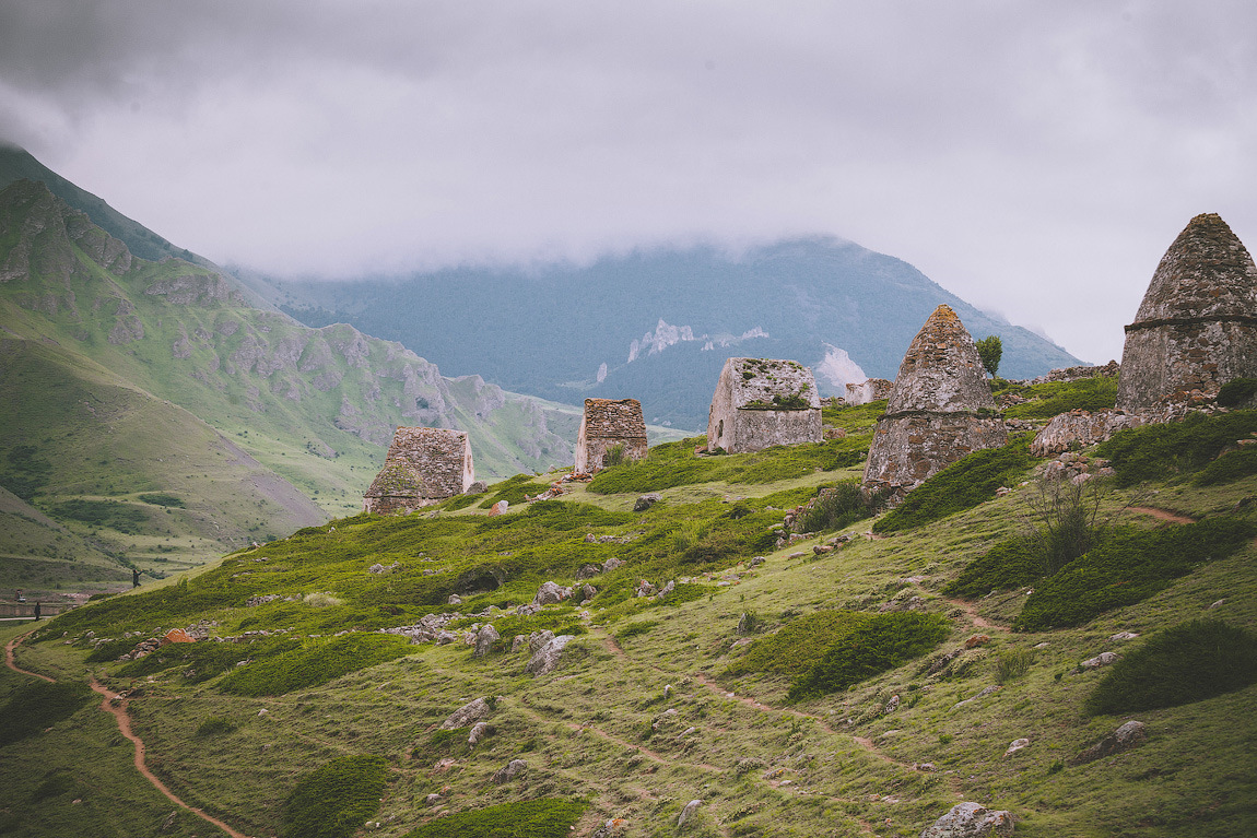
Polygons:
M1120 489L1092 481L1086 492L1099 494L1084 498L1099 547L1052 575L1003 547L1047 528L1041 462L1011 475L1011 492L944 504L887 536L865 518L788 543L783 519L820 520L788 510L822 489L843 498L859 477L843 451L867 442L875 412L826 411L848 436L816 446L722 457L659 446L601 485L567 484L558 500L500 516L451 501L307 528L64 614L19 662L65 681L87 663L137 688L128 706L153 770L246 834L310 834L317 822L328 835L591 835L622 819L613 834L918 835L960 800L1011 810L1018 835L1257 832L1257 749L1242 721L1257 706L1257 475L1200 480L1205 461ZM1251 420L1189 430L1208 440ZM1161 440L1139 430L1116 445L1120 482ZM931 479L935 495L963 472ZM485 499L558 476L507 481ZM650 480L662 499L634 511ZM1019 621L1076 599L1077 574L1121 592L1144 567L1160 575L1138 596L1094 601L1060 627ZM989 587L944 593L977 573ZM588 603L578 593L518 608L547 580L585 584L578 575L596 588ZM454 642L407 646L377 631L421 618L440 618ZM476 657L485 624L500 639ZM143 637L197 626L224 642L117 660ZM572 639L556 671L533 676L527 637L543 629ZM1210 675L1208 655L1182 651L1223 636L1237 650L1226 677ZM1131 663L1082 666L1102 652ZM1110 672L1154 696L1149 709L1112 710ZM1174 697L1183 680L1202 688ZM5 671L0 704L26 706L28 681ZM490 730L470 746L468 726L441 724L478 697ZM68 712L4 748L18 802L6 828L87 834L65 825L72 800L118 823L109 789L123 788L134 823L156 823L160 800L136 785L124 749L112 764L88 759L97 786L57 779L73 749L109 750L99 710ZM1144 744L1082 759L1131 719L1146 725ZM703 803L678 828L690 800ZM206 828L185 813L165 834Z

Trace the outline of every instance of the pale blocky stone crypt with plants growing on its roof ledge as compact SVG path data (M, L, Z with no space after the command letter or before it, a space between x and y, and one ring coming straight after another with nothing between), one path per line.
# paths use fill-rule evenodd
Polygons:
M821 397L796 361L729 358L708 413L708 451L759 451L821 441Z

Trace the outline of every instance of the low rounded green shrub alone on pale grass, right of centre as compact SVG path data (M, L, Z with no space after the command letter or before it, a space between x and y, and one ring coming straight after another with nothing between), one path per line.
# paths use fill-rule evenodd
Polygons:
M786 697L799 701L846 690L875 675L903 666L941 643L952 633L938 614L899 612L871 614L845 639L831 646L812 670L791 683Z

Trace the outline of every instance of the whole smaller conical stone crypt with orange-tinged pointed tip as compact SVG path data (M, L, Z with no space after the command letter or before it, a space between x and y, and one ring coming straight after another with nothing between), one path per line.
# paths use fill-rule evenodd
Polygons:
M897 499L964 455L1007 442L973 338L939 305L899 366L862 485Z

